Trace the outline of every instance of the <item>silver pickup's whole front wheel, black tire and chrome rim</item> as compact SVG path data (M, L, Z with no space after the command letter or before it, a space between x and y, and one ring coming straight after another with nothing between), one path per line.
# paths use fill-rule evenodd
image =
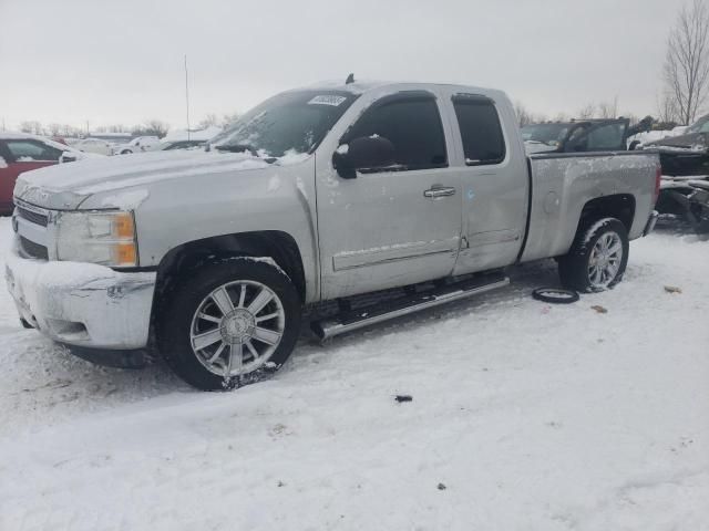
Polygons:
M277 266L247 257L204 266L158 317L161 353L188 384L229 389L279 368L300 331L300 298Z

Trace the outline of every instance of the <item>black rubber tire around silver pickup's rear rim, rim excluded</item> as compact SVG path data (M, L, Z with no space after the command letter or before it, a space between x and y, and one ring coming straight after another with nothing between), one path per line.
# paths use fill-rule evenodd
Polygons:
M619 259L619 267L615 274L604 280L600 284L592 280L589 273L589 261L592 252L598 240L605 235L615 233L621 244L623 256ZM558 274L564 288L576 290L582 293L593 293L612 289L625 273L628 263L628 231L625 225L616 218L604 218L584 226L576 235L576 239L571 250L558 261Z

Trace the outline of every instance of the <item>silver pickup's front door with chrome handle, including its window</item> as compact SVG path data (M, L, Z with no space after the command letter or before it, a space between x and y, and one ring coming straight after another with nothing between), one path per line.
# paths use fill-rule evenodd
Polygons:
M394 165L343 179L332 169L332 150L318 159L323 299L446 277L455 264L461 181L449 164L436 96L410 91L376 100L338 144L373 135L393 144Z

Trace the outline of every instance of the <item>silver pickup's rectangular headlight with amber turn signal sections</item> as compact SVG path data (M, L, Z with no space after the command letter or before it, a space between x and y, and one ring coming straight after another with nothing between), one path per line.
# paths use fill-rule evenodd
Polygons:
M63 212L56 220L56 258L111 268L138 264L133 212Z

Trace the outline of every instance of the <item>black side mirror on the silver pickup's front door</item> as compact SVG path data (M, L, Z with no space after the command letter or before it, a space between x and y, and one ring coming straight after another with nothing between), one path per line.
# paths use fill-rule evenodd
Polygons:
M332 165L343 179L357 177L358 169L383 168L394 164L394 145L383 136L360 136L342 144L332 154Z

